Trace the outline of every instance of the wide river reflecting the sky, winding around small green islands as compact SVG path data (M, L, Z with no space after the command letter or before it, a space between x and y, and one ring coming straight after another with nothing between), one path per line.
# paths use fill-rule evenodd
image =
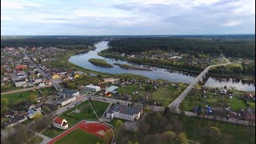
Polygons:
M179 70L171 70L171 69L165 69L165 68L159 68L159 67L147 66L147 65L138 65L136 63L121 61L114 58L103 58L102 56L98 55L98 52L100 52L101 50L107 49L108 48L107 44L108 44L107 41L98 42L95 44L96 50L90 50L89 52L82 53L82 54L75 54L71 56L71 58L69 59L69 62L72 62L78 66L82 66L86 69L94 70L102 73L138 74L154 80L164 79L169 82L190 83L190 82L193 82L194 78L196 78L197 76L197 74L191 74L191 73L183 72ZM112 64L114 67L95 66L90 62L88 62L90 58L105 59L106 62ZM129 64L132 66L146 67L152 71L126 70L126 69L120 68L119 66L115 66L113 63L121 63L121 64ZM210 86L210 87L234 86L238 90L255 91L255 82L242 82L241 80L235 79L235 78L210 77L207 79L205 86Z

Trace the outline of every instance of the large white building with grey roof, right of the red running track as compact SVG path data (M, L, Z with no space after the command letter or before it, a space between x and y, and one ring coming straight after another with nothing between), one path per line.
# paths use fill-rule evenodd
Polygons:
M121 118L128 121L134 121L141 118L143 109L134 106L115 105L106 112L106 118Z

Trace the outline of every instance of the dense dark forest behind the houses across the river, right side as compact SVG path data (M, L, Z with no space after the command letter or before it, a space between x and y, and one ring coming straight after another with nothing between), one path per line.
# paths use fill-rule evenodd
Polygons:
M122 38L109 43L110 51L134 54L146 50L174 50L226 57L254 58L255 39L242 38Z

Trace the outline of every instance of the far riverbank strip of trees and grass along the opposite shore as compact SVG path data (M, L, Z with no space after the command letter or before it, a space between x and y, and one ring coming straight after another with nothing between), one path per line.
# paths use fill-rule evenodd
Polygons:
M115 59L123 60L123 61L127 61L127 62L134 62L136 64L148 65L148 66L157 66L157 67L160 67L160 68L179 70L179 71L184 71L184 72L193 73L193 74L200 74L202 72L202 70L187 70L187 69L179 68L179 67L176 67L176 66L165 66L165 65L154 64L154 63L150 63L150 62L137 62L137 61L134 61L134 60L129 59L129 58L110 56L110 55L102 54L102 53L98 53L98 55L100 55L104 58L115 58ZM253 75L218 74L218 73L213 73L213 72L209 72L208 74L210 76L220 77L220 78L238 78L238 79L241 79L242 81L255 81L255 77Z

